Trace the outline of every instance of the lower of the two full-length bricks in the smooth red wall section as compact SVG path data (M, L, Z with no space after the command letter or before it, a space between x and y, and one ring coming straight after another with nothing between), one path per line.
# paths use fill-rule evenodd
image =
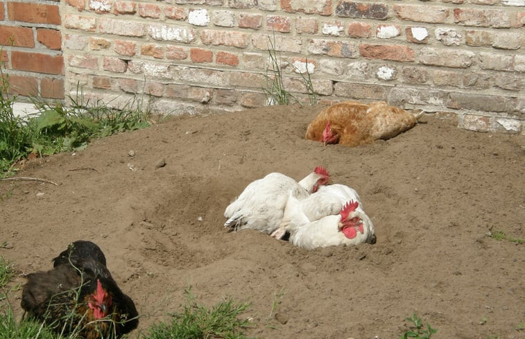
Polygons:
M19 69L21 71L64 74L64 59L62 55L12 51L11 66L13 69Z

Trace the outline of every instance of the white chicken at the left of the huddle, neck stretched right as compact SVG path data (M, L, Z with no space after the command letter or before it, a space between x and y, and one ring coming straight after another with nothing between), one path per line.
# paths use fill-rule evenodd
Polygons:
M328 180L328 171L320 166L300 182L282 173L270 173L248 184L241 195L226 207L224 227L234 231L250 228L271 234L282 222L289 196L307 198Z

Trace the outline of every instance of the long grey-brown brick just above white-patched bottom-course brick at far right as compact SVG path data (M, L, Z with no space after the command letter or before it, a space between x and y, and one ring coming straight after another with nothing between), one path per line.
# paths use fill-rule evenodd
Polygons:
M506 96L450 92L447 107L481 112L513 112L515 99Z

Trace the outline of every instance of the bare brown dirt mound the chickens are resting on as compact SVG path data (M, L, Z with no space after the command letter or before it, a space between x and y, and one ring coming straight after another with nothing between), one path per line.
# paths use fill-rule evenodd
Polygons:
M0 255L24 283L94 241L141 313L131 338L180 312L188 286L207 306L250 302L259 338L399 338L413 312L436 338L525 338L525 245L487 235L525 238L525 137L425 116L388 141L323 147L303 138L320 109L174 117L32 160L17 176L58 186L0 182ZM375 245L307 251L223 228L252 180L318 165L359 192Z

